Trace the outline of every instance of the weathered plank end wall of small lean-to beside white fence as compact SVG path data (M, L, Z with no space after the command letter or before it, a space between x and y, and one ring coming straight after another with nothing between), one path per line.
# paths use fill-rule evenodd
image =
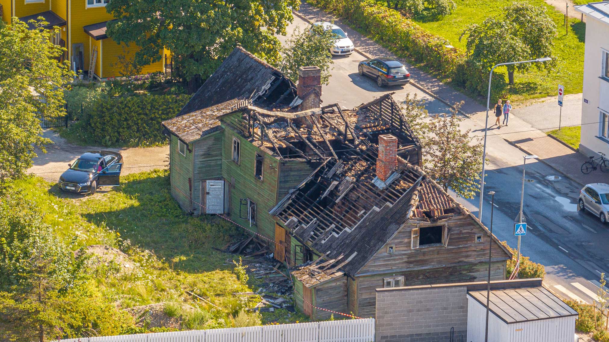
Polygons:
M337 277L325 284L317 285L314 290L314 304L323 309L348 313L347 305L347 276ZM331 313L314 309L314 319L323 321L330 318ZM334 315L334 318L344 318L343 315Z

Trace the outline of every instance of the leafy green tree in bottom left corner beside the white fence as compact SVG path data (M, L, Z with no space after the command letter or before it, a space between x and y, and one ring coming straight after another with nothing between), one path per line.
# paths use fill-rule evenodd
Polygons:
M0 340L116 335L133 327L88 283L88 254L74 253L11 192L0 203Z

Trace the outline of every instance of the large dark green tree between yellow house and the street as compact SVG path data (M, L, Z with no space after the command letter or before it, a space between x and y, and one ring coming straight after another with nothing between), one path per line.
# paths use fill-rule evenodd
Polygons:
M298 5L298 0L112 0L106 10L117 19L108 23L108 35L140 47L139 65L159 61L166 47L176 75L196 90L237 44L276 63L281 44L275 35L286 34Z

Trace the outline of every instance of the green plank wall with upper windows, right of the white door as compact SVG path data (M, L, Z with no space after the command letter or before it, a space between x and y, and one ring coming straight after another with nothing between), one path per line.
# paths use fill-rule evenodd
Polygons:
M222 176L228 181L234 178L234 184L231 184L231 218L240 225L250 228L247 219L239 218L239 199L249 198L256 203L257 216L256 225L252 226L251 229L271 240L275 240L275 218L269 214L269 210L276 204L279 161L234 131L236 127L242 127L241 113L223 117L222 124L224 124ZM238 139L241 143L239 164L231 160L233 138ZM254 175L256 153L264 156L262 180L258 180ZM241 211L242 216L247 217L245 206L241 208ZM243 213L243 211L245 212Z

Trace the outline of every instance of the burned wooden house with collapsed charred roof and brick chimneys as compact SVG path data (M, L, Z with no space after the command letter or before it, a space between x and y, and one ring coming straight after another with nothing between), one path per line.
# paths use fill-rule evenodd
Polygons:
M374 316L378 287L481 279L488 239L493 279L504 279L509 251L421 171L421 144L391 94L344 110L322 105L320 79L300 68L294 85L235 49L163 122L181 207L272 241L315 319L329 314L313 305Z

